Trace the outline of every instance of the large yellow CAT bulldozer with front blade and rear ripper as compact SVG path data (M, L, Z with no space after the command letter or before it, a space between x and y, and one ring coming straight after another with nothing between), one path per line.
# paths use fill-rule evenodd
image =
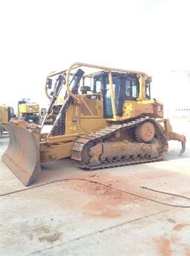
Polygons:
M150 97L151 82L143 72L86 63L50 73L43 123L30 129L4 124L10 139L2 160L28 186L41 163L57 159L71 157L86 170L149 163L164 159L170 139L181 142L183 154L186 137L172 132L169 119L163 118L163 104ZM62 107L43 133L62 91Z

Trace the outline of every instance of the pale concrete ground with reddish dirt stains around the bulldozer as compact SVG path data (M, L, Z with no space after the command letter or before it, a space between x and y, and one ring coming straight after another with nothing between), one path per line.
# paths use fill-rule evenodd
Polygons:
M169 142L156 163L84 171L63 159L26 188L0 160L0 255L189 256L190 122L171 123L186 151Z

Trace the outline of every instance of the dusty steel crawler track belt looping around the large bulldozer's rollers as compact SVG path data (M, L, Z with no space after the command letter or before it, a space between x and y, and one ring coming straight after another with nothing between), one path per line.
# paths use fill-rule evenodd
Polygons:
M145 122L151 122L155 127L155 138L157 138L160 143L160 150L158 156L152 158L150 154L130 154L128 156L123 155L121 157L107 157L106 159L101 159L100 156L99 164L97 165L91 165L90 161L86 161L86 159L90 159L89 149L92 146L95 146L99 143L111 142L111 139L116 137L117 132L123 132L127 129L133 129ZM134 139L134 142L138 142L136 138ZM155 119L151 119L149 117L142 117L140 119L134 119L133 121L126 122L125 124L112 124L110 127L101 129L95 134L88 134L80 137L76 142L74 142L71 157L80 167L93 170L159 161L163 159L164 156L167 154L167 149L167 138L164 136L160 124L157 124ZM88 157L86 158L86 156Z

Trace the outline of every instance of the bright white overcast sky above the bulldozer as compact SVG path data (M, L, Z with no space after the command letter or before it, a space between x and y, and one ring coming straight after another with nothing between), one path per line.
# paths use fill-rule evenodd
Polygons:
M170 75L190 70L189 9L189 0L2 1L0 103L47 107L48 73L84 62L152 75L153 96L174 104Z

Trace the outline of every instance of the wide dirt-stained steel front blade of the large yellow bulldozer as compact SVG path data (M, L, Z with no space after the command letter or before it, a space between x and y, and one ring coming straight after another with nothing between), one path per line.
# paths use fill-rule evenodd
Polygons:
M9 132L9 146L1 159L15 176L28 186L41 171L40 129L32 131L15 124L4 124Z

